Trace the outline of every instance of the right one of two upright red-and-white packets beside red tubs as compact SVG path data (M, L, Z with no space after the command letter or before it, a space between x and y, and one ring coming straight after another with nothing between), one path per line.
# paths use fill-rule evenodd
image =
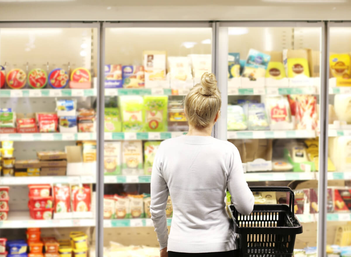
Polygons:
M72 186L72 205L73 211L91 210L91 190L88 185Z

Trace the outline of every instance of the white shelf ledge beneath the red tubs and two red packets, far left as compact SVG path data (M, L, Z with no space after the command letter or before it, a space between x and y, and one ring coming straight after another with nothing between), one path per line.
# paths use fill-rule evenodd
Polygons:
M29 211L10 211L6 221L0 221L0 229L17 228L68 228L95 226L95 219L32 219Z

